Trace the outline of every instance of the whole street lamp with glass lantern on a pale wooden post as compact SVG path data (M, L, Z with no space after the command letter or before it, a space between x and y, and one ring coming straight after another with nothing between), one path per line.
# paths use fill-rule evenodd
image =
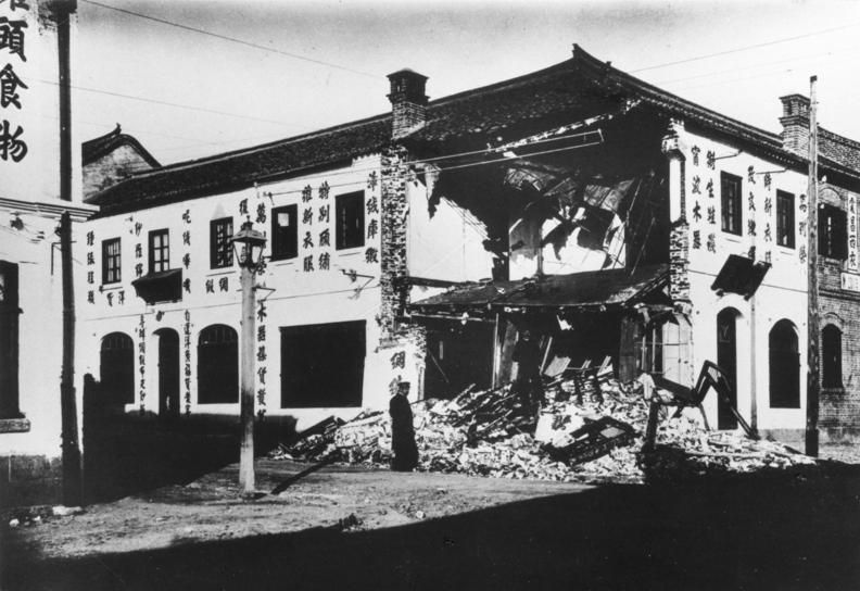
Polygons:
M236 261L242 269L242 336L239 367L240 422L239 486L243 493L254 492L254 274L263 259L266 238L253 229L249 219L231 239Z

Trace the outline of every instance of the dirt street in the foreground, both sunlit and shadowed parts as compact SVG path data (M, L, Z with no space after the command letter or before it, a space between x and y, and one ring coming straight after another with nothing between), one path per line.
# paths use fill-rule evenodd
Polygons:
M260 461L2 529L2 589L848 589L860 470L663 486ZM306 474L302 474L305 471ZM301 476L301 477L300 477Z

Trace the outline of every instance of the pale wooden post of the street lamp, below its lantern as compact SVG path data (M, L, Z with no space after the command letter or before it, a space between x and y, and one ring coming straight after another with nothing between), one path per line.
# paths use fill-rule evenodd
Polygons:
M248 250L251 256L251 249ZM239 486L245 494L253 493L254 482L254 269L242 265L242 336L240 376L240 420L242 441L239 448Z

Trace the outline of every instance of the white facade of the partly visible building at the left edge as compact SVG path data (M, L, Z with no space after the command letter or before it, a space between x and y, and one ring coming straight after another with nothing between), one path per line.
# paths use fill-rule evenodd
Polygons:
M5 158L0 156L0 262L16 268L17 274L16 296L12 293L13 286L7 282L9 276L0 278L0 300L16 298L20 309L16 336L2 335L7 343L11 342L7 340L10 338L17 340L17 351L10 364L16 363L18 368L20 415L0 415L0 458L10 461L13 487L14 458L31 456L58 462L61 456L63 302L60 238L55 230L62 212L68 211L73 240L77 240L81 223L97 211L81 204L77 197L80 194L80 166L79 153L74 150L72 194L76 202L60 200L59 92L55 85L43 87L36 81L58 80L56 29L53 22L39 17L39 11L45 10L42 2L28 4L28 8L18 7L12 11L9 2L0 3L0 16L26 24L23 28L26 61L3 49L0 66L9 64L28 85L28 88L16 89L20 108L9 104L0 109L0 125L8 125L10 134L16 134L20 128L17 139L26 144L23 155L11 150ZM74 54L75 15L71 18ZM73 125L73 134L74 130ZM16 161L13 153L21 155L20 160ZM79 247L79 242L73 244L75 281L81 280L83 249ZM3 329L9 329L9 325L4 324ZM0 360L0 363L7 361ZM75 378L80 408L80 375ZM0 395L12 395L2 390ZM0 480L5 482L5 478L3 475Z

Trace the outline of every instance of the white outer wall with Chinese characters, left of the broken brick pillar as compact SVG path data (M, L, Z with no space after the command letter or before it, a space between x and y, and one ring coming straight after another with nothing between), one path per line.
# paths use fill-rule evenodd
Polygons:
M254 227L267 234L270 229L273 206L295 203L299 205L299 256L287 261L269 261L265 273L257 278L261 289L257 300L265 300L266 314L266 341L257 342L255 347L265 345L267 359L257 362L257 367L266 368L266 382L257 378L256 389L265 388L265 412L269 415L289 415L299 419L298 428L302 429L331 414L351 417L359 408L280 408L280 327L324 324L345 320L365 320L367 326L365 361L365 383L363 406L383 407L388 404L388 383L396 376L417 385L418 357L414 348L408 343L379 349L379 326L377 315L380 311L380 264L378 252L380 249L379 232L368 235L371 219L379 226L379 213L365 211L365 244L359 248L336 250L334 238L334 202L336 196L358 190L365 191L365 202L376 199L380 206L380 189L378 180L374 183L369 176L376 173L379 178L379 158L368 156L356 160L352 166L268 185L261 185L256 190L248 189L233 193L226 193L202 199L188 200L180 203L160 208L142 210L130 214L93 221L89 229L93 232L93 244L88 247L93 253L93 264L89 265L94 272L94 284L86 286L86 291L93 292L93 304L85 306L83 330L86 332L86 352L81 355L84 369L81 373L91 373L99 378L99 349L104 335L119 330L129 335L138 347L138 328L140 318L143 317L146 339L146 367L143 369L144 387L137 388L134 404L127 406L128 411L140 408L141 403L147 411L157 412L157 338L155 330L169 327L180 335L180 350L185 351L184 331L186 312L190 316L190 379L191 379L191 413L238 414L239 405L236 404L198 404L197 403L197 343L200 331L212 324L225 324L240 332L240 303L239 267L233 265L227 269L210 268L210 222L215 218L231 215L233 217L233 231L244 221L239 208L242 200L246 200L248 212ZM318 187L324 183L330 187L330 197L320 199ZM302 191L306 186L313 188L312 199L303 201ZM270 193L270 196L269 196ZM319 208L330 205L330 222L319 221ZM311 208L313 222L302 224L303 210ZM184 217L184 214L188 214ZM260 214L265 215L265 222ZM190 219L190 221L186 221ZM135 230L136 224L141 224L139 234ZM182 267L184 279L190 280L191 292L184 290L182 300L173 303L146 304L135 294L131 281L135 279L135 265L142 263L144 273L148 264L148 232L153 229L168 228L170 234L170 267ZM319 232L326 227L330 230L330 247L319 246ZM185 231L190 232L190 244L182 243ZM305 231L312 232L314 246L304 248ZM102 240L122 238L122 268L123 281L117 286L108 286L104 292L99 291L101 281L101 242ZM135 244L142 244L141 259L135 257ZM270 252L267 246L266 254ZM376 249L377 261L367 260L368 249ZM324 252L330 254L330 268L319 269L319 255ZM190 264L185 268L182 256L189 254ZM314 263L313 272L304 269L304 257L311 256ZM355 278L351 277L355 273ZM222 291L220 280L226 280L227 290ZM213 280L214 293L206 293L206 281ZM118 293L125 292L125 303L119 305ZM106 294L114 293L114 304L108 303ZM81 296L81 301L87 301L87 293ZM161 319L157 319L161 313ZM257 320L260 326L260 320ZM392 356L399 351L406 352L405 367L393 367ZM422 360L420 360L422 362ZM136 355L136 370L137 366ZM180 364L185 370L185 362ZM138 374L138 377L140 375ZM416 386L413 390L415 391ZM142 397L141 397L142 393ZM186 388L182 383L180 398L185 410ZM142 399L142 400L141 400ZM257 408L262 405L257 403Z

